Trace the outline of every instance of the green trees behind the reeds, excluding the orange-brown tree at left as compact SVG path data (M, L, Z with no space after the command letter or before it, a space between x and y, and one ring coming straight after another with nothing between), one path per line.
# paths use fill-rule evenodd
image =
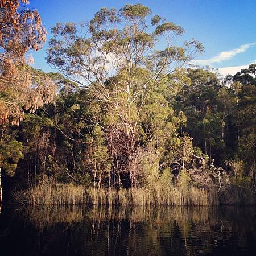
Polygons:
M183 28L158 15L151 27L150 15L140 4L104 7L88 27L52 28L47 61L62 73L49 74L59 95L26 115L15 129L19 142L1 144L5 170L13 174L23 152L19 171L28 184L42 177L94 188L174 181L189 191L219 187L221 172L255 185L255 65L228 76L229 86L209 69L184 69L203 47L194 39L173 45L168 39ZM166 48L157 50L164 38Z

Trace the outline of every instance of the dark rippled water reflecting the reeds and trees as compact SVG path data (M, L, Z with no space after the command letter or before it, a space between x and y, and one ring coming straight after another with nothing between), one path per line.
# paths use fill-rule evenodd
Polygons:
M256 209L4 208L0 255L256 255Z

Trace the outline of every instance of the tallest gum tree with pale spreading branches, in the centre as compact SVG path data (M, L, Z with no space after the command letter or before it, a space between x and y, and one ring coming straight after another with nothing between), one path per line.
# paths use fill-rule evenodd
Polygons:
M49 64L87 88L105 113L101 119L93 113L87 118L104 132L113 175L120 179L117 170L121 170L129 179L128 187L138 185L134 163L142 149L142 112L148 98L163 84L172 90L168 77L179 73L179 80L182 68L203 51L195 39L176 46L184 29L158 15L148 23L149 16L148 7L136 4L119 11L104 7L87 24L57 23L47 56ZM157 50L159 42L165 42L166 47ZM159 101L155 107L167 105ZM154 127L147 126L148 136ZM152 148L159 147L154 143Z

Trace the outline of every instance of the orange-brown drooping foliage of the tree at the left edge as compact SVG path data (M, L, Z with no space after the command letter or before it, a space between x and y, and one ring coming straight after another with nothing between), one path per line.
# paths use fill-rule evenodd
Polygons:
M35 112L56 95L52 80L28 66L27 51L38 51L45 40L46 30L38 11L20 8L19 0L0 0L0 202L3 154L8 143L6 126L19 125L24 109Z

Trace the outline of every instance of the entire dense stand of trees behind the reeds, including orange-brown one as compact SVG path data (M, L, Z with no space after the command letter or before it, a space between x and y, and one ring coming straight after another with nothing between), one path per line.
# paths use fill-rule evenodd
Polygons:
M46 40L38 12L1 0L3 200L72 185L255 203L256 64L226 77L196 67L203 46L183 34L146 6L104 7L52 28L47 63L58 72L45 73L26 54Z

